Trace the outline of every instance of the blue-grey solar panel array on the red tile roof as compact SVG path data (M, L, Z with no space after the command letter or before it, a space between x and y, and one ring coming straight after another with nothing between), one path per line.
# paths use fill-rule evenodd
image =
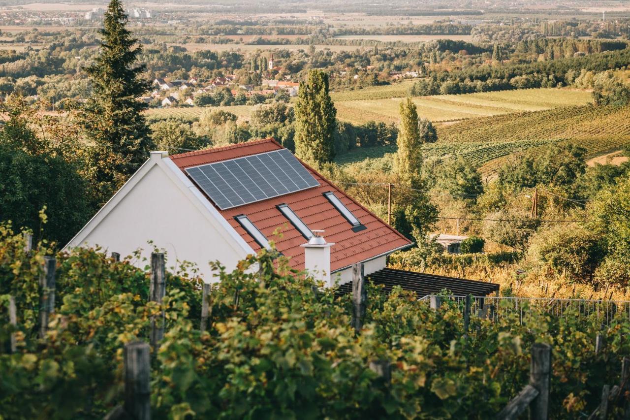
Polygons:
M221 210L319 186L287 149L194 166L186 173Z

